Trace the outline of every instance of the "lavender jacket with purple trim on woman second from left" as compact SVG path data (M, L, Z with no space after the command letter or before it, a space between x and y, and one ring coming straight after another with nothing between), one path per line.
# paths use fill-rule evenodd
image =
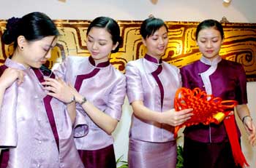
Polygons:
M65 81L71 82L79 93L100 111L104 111L113 119L121 118L126 94L125 76L110 65L109 61L95 65L92 57L69 56L55 73ZM75 144L78 150L97 150L113 144L113 137L99 128L80 105L77 105L77 111ZM85 126L89 127L89 130Z

